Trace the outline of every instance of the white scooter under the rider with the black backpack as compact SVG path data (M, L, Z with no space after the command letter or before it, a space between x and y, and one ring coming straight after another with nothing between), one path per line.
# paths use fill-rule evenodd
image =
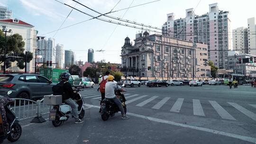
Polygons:
M84 101L81 95L78 93L80 90L74 90L75 95L73 100L78 104L78 117L82 119L84 117ZM72 108L66 103L60 105L54 105L53 108L50 108L49 121L52 121L52 124L57 127L60 126L64 121L67 121L70 116Z

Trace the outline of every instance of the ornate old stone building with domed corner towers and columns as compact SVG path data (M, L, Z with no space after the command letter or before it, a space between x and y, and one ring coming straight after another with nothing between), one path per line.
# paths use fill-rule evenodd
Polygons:
M189 41L158 34L149 35L148 32L136 37L134 45L126 37L122 46L121 71L126 76L210 77L210 67L205 64L208 63L207 45L193 45Z

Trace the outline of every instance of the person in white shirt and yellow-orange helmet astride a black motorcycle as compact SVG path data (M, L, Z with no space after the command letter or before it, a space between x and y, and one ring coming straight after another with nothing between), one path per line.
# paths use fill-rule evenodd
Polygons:
M115 90L118 88L117 82L114 81L114 76L109 75L107 78L107 83L105 85L105 98L113 101L119 108L122 114L122 119L128 119L124 113L124 108L122 107L121 101L115 95Z

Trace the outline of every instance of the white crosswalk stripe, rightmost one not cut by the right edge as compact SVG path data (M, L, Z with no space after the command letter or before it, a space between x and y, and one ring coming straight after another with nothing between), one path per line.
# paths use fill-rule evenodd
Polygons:
M224 119L236 120L224 108L222 108L216 101L209 100L211 106L217 111L219 116Z

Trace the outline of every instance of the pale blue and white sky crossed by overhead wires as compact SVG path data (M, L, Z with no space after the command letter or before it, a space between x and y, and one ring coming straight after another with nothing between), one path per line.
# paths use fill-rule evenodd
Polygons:
M98 16L72 0L58 0L72 7L75 6L85 13ZM101 13L128 8L154 0L78 0L83 5ZM229 11L231 30L237 27L247 27L247 18L256 17L256 0L160 0L154 3L121 10L111 13L119 17L161 28L166 21L166 14L174 13L175 19L185 17L185 9L194 8L196 15L209 12L209 4L219 4L219 10ZM198 5L198 6L197 6ZM135 35L139 29L118 26L116 24L92 19L72 27L57 30L72 8L55 0L0 0L0 6L6 6L13 12L13 18L25 21L38 30L38 36L55 38L56 44L63 44L65 50L75 51L76 60L86 62L88 49L94 49L95 61L105 59L110 63L121 63L121 47L128 36L134 43ZM196 7L197 6L197 7ZM66 19L62 27L90 19L91 17L75 9ZM107 17L101 17L109 19ZM48 34L46 34L48 33ZM46 35L45 35L46 34ZM153 34L153 33L150 33ZM54 37L53 37L54 36ZM96 52L96 50L105 52Z

